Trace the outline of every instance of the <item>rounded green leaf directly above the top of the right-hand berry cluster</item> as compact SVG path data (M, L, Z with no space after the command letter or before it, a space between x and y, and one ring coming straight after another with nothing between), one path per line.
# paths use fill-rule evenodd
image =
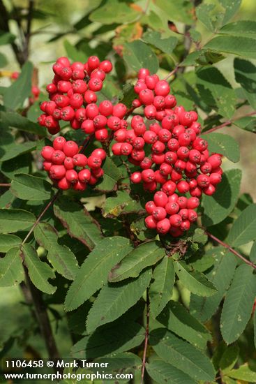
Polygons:
M159 68L156 54L141 40L123 45L123 59L135 72L140 71L140 68L148 68L151 73L156 73Z

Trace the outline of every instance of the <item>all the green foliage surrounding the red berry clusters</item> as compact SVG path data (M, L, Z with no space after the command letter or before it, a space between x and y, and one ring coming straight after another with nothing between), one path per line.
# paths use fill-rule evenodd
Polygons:
M0 196L0 356L47 357L33 304L18 286L29 295L22 254L43 292L62 357L133 353L140 383L150 301L145 383L256 382L255 274L232 253L256 262L254 1L36 1L30 53L16 82L6 71L20 71L11 43L24 44L18 28L26 27L27 1L3 5L10 31L2 19L0 177L11 186L1 187ZM100 100L121 99L128 106L130 88L123 85L132 84L142 66L160 77L175 70L170 81L178 103L197 109L211 151L225 156L223 182L216 195L202 199L201 224L209 237L193 228L176 248L167 237L164 248L138 219L149 196L127 190L126 168L107 158L96 191L59 196L21 245L56 193L38 156L48 142L36 124L44 91L22 114L36 77L33 66L43 89L57 57L85 61L91 54L114 62ZM68 126L63 130L82 142Z

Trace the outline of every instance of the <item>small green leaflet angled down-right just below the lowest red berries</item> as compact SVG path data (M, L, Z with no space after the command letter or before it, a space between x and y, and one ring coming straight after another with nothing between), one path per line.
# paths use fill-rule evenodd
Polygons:
M216 287L201 272L189 272L188 266L183 261L174 262L175 272L184 287L198 296L211 296L216 294Z

